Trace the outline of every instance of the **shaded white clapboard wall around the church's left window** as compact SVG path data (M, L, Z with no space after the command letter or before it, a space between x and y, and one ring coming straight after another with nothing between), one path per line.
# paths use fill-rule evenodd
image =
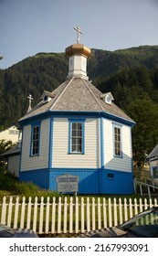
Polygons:
M30 156L31 126L26 125L24 127L23 144L25 144L25 147L22 147L21 171L47 168L49 150L49 123L49 119L41 122L39 155L34 157Z

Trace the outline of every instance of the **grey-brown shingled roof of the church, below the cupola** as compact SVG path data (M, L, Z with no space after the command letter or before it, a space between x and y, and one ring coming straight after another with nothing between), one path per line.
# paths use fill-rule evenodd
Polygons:
M35 117L45 112L106 112L127 121L132 119L122 112L113 102L106 103L100 98L99 91L89 80L73 77L66 80L51 94L54 96L47 103L40 101L30 112L27 112L19 122Z

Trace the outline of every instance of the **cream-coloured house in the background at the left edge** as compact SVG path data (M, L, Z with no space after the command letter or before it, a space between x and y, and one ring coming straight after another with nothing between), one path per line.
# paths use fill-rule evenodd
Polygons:
M17 143L18 141L18 134L19 131L15 125L5 129L4 131L0 132L0 141L11 141L12 143Z

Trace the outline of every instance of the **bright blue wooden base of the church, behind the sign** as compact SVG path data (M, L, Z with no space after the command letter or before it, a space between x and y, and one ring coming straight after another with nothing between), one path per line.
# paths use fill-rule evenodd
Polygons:
M20 173L20 180L57 190L57 176L79 176L79 194L132 194L132 173L102 169L41 169Z

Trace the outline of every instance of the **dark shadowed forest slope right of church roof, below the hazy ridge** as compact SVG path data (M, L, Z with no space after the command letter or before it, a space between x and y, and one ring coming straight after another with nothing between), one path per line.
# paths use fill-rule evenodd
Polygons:
M120 69L106 79L100 80L97 86L102 92L111 91L115 103L125 110L129 103L137 99L149 97L153 101L158 100L156 81L153 80L156 80L154 69L134 66Z

